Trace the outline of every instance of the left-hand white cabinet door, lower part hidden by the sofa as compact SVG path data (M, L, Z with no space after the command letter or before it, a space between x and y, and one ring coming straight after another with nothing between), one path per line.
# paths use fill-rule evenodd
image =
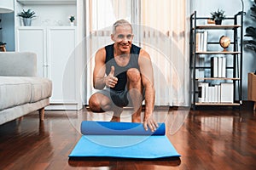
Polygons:
M38 60L38 77L48 77L46 58L46 31L43 27L18 28L16 51L34 52Z

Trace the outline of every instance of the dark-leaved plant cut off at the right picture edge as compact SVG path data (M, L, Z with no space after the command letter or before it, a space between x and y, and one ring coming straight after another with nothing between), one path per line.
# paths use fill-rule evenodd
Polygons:
M245 48L253 50L253 52L256 54L256 0L254 0L254 4L250 9L251 20L249 20L249 23L252 26L247 26L245 34L245 37L250 37L250 39L245 40L244 44Z

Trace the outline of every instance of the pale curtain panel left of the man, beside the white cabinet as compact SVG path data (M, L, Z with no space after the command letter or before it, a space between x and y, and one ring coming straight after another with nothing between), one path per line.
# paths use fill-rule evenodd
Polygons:
M92 74L95 65L95 54L99 48L113 43L110 35L116 20L125 19L131 22L131 0L89 0L87 13L89 31L86 38L86 92L85 104L90 95L96 92L92 86Z

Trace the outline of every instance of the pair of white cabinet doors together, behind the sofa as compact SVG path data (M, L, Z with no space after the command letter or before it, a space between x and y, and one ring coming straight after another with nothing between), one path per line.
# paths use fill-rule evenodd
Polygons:
M79 110L79 65L75 59L76 27L20 27L16 34L16 51L34 52L38 56L38 76L53 83L48 110Z

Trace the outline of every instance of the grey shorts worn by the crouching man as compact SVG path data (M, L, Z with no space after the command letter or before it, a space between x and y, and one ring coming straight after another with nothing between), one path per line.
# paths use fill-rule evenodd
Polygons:
M127 88L125 88L125 90L122 90L122 91L116 91L110 88L105 88L97 91L96 93L107 96L108 99L111 99L113 101L114 105L117 105L119 107L132 106L131 102L129 102L131 101L131 97L128 93ZM145 99L145 89L143 89L143 100L144 99Z

